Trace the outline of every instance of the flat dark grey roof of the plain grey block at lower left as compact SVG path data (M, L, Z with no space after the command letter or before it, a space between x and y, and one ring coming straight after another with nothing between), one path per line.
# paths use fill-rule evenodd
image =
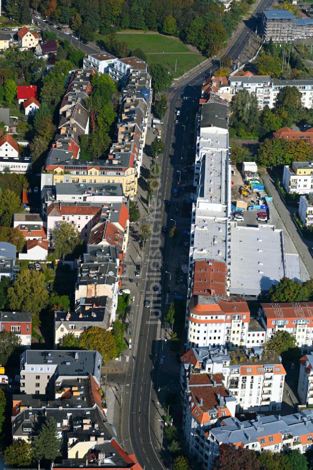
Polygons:
M102 356L97 351L32 351L21 354L21 370L23 364L57 364L58 376L99 376L98 367Z

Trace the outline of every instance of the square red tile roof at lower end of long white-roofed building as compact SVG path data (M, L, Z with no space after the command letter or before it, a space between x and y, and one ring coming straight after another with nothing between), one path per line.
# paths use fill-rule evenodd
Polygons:
M226 294L226 263L205 259L193 266L193 295Z

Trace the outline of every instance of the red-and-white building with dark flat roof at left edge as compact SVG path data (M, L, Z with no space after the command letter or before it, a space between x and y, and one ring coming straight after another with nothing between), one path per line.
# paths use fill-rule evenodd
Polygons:
M16 334L20 344L31 346L31 313L0 312L0 332L10 331Z

